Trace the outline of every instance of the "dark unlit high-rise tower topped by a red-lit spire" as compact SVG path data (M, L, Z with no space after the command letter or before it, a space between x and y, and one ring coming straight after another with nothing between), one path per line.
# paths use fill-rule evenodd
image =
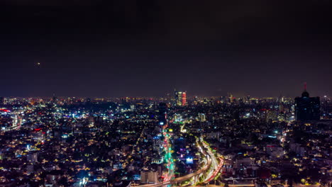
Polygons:
M302 96L295 98L295 119L302 121L319 120L320 108L319 97L309 97L305 84Z

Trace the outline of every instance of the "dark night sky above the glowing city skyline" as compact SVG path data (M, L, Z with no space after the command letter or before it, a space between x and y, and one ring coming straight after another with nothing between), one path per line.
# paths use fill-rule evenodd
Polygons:
M0 96L300 96L305 81L331 96L330 12L328 0L2 0Z

